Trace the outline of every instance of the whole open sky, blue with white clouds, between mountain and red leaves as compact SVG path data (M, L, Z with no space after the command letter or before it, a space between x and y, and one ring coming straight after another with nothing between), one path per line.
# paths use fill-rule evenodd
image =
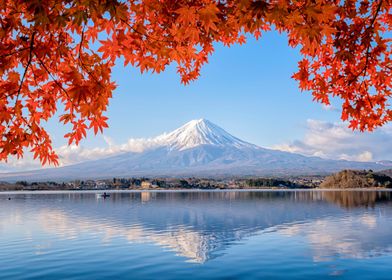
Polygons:
M68 147L63 137L67 127L58 118L47 129L61 164L126 151L134 138L154 137L200 118L263 147L332 159L392 160L392 127L352 132L340 121L339 101L326 109L298 89L291 76L299 60L299 50L277 32L258 41L249 38L242 46L217 44L200 78L187 86L180 84L175 65L161 74L140 74L120 60L112 75L118 88L103 135L90 132L79 147ZM40 167L26 154L23 160L0 164L0 172Z

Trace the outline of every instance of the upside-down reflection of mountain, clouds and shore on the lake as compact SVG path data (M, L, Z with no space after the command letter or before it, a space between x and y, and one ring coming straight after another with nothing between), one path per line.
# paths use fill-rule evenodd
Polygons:
M25 195L15 201L24 198L30 201ZM350 256L364 256L372 250L380 253L392 243L392 223L383 219L391 216L390 199L390 193L329 191L113 193L107 200L87 193L36 194L31 211L40 215L43 228L64 237L102 232L105 240L121 236L131 242L153 242L202 263L265 229L307 236L318 248L315 255L323 250ZM346 205L377 208L378 216L376 209L356 208L350 210L353 220L347 220ZM331 224L331 217L340 223ZM358 220L369 225L361 228L360 235L354 232ZM328 251L334 246L340 250Z

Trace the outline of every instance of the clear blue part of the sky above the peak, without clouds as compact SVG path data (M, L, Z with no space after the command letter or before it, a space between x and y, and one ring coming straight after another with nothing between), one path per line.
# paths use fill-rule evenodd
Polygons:
M339 112L327 111L300 92L291 75L300 59L285 35L268 32L259 41L230 48L216 45L200 78L180 84L175 65L161 74L140 74L118 61L113 80L118 84L110 102L109 129L116 143L130 137L152 137L199 118L206 118L244 140L271 146L301 137L307 119L337 121ZM65 144L64 129L49 125L55 146ZM103 145L102 136L83 145Z

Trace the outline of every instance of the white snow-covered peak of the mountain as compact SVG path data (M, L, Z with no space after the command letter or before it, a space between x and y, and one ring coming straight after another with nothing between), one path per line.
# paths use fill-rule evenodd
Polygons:
M183 151L200 145L255 147L242 141L206 119L192 120L161 136L158 142L171 149Z

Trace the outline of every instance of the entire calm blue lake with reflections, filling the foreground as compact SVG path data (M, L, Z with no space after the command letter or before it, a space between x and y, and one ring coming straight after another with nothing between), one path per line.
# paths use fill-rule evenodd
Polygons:
M391 264L388 191L0 193L0 279L391 279Z

